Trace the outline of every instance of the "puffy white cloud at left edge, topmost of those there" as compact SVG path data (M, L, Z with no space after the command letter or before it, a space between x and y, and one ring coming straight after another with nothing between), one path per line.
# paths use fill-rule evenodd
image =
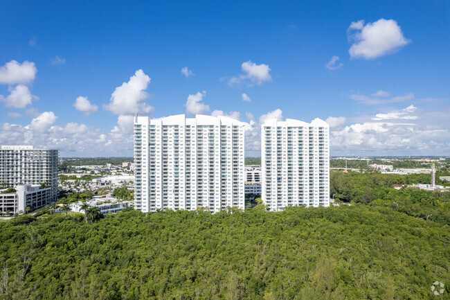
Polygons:
M36 73L37 69L34 62L26 60L20 64L11 60L0 67L0 84L17 85L33 82Z

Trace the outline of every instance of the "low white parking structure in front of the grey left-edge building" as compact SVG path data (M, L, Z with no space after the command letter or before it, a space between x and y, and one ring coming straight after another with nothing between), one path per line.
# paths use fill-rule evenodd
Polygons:
M15 186L15 193L5 193L7 189L0 190L0 213L25 213L30 206L33 210L51 203L51 188L39 188L39 185L21 184Z

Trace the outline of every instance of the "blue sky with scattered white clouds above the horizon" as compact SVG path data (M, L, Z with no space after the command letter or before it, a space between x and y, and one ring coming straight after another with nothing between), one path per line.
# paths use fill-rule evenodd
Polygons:
M0 1L0 145L133 155L135 113L330 124L330 154L450 156L449 1Z

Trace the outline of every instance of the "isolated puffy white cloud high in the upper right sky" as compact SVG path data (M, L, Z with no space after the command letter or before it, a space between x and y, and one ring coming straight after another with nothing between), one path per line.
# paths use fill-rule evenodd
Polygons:
M363 20L352 22L348 35L349 39L354 39L354 44L348 51L350 58L366 60L392 53L411 42L404 37L402 29L392 19L379 19L366 26Z

